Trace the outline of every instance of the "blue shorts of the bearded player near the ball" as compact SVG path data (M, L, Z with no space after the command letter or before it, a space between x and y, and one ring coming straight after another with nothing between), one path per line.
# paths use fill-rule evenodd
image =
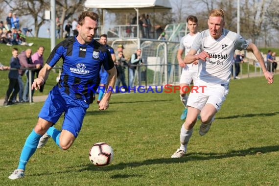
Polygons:
M46 98L45 104L38 117L55 124L60 116L64 114L62 129L67 130L76 138L82 126L83 118L89 104L83 99L72 98L58 87L54 87Z

